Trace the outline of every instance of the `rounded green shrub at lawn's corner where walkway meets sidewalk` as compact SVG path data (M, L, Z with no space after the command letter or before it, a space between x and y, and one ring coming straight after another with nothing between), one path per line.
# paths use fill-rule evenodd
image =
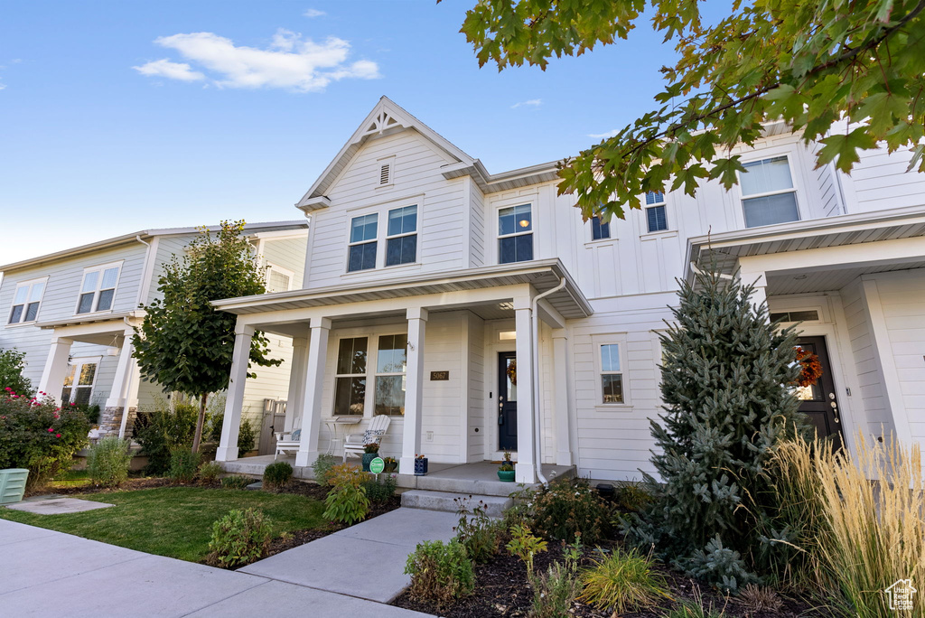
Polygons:
M212 525L207 561L228 568L250 564L264 557L270 538L271 528L264 513L233 509Z

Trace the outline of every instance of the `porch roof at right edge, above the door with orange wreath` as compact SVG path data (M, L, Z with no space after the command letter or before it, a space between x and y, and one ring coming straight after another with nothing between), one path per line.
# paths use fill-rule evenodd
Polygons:
M732 274L740 257L922 236L925 236L922 205L697 236L687 241L685 277L692 281L692 266L706 269L713 260L720 272Z

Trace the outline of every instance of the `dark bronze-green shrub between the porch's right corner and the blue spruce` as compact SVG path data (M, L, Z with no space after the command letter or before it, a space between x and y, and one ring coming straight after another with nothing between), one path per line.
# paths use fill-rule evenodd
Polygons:
M607 505L584 478L541 488L534 497L533 511L540 536L568 543L574 542L576 535L585 543L596 543L608 525Z

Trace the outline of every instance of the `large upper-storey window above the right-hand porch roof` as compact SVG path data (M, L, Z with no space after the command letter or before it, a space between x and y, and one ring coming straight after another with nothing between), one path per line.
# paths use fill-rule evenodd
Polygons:
M739 174L746 228L798 221L796 189L786 156L742 164Z

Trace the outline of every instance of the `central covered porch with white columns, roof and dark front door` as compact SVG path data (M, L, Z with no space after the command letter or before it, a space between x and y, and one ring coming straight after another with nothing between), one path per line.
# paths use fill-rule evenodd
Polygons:
M297 476L308 477L320 453L339 456L344 434L362 440L380 414L390 422L379 453L399 461L405 488L422 487L412 474L418 453L441 473L514 451L516 481L526 485L545 480L550 464L575 462L566 320L591 308L558 260L215 304L239 316L216 453L229 471L263 470L238 462L235 448L257 330L292 338L282 433L299 432L287 439L298 444ZM483 480L499 482L489 472Z

